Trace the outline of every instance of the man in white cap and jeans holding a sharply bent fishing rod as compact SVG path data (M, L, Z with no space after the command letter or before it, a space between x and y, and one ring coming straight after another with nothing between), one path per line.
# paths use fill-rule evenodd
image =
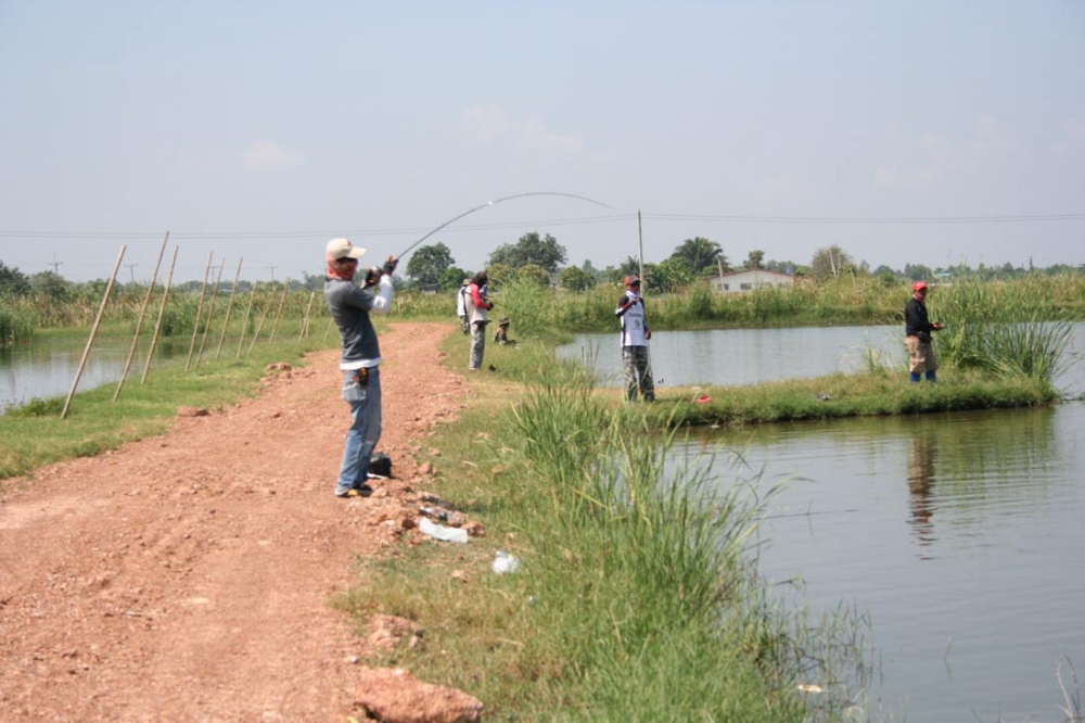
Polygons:
M368 497L369 461L381 439L381 346L370 314L392 310L392 274L398 259L388 256L381 268L366 274L363 286L355 283L358 259L366 255L347 239L332 239L324 249L328 275L324 301L343 340L340 369L343 398L350 405L350 429L335 484L336 497Z

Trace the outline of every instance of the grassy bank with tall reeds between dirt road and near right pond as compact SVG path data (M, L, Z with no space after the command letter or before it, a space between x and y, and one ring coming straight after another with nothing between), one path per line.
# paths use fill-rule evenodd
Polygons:
M449 340L454 368L464 346ZM488 720L838 718L843 685L817 710L796 685L860 678L864 625L771 602L749 554L771 491L722 484L709 460L664 470L677 437L541 347L487 360L500 371L472 377L464 417L427 440L442 498L487 537L363 561L339 601L359 622L379 611L425 629L424 647L383 662L471 692ZM492 572L499 548L515 574Z

